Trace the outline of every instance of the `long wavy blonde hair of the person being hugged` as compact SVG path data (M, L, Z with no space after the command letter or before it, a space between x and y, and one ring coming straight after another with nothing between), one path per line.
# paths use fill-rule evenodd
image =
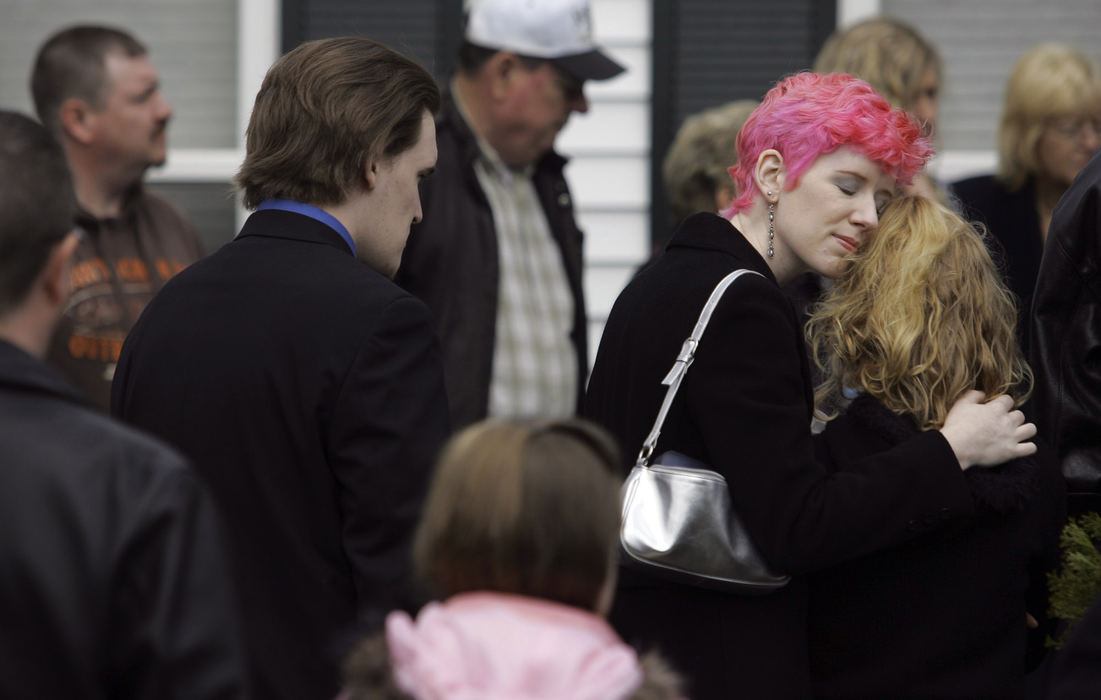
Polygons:
M816 392L822 417L836 416L843 389L923 430L941 427L972 389L1024 403L1032 371L1017 346L1016 306L983 236L926 197L887 205L807 322L825 378Z

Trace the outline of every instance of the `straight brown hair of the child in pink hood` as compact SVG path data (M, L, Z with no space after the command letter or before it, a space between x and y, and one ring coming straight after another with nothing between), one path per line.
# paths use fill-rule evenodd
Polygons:
M414 542L432 591L531 595L595 610L619 533L618 450L580 419L483 422L456 436Z

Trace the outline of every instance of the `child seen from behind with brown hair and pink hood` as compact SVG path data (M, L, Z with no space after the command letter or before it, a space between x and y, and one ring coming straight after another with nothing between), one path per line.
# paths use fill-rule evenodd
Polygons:
M414 565L443 602L348 658L341 700L673 700L603 615L615 586L618 450L580 419L483 422L440 458Z

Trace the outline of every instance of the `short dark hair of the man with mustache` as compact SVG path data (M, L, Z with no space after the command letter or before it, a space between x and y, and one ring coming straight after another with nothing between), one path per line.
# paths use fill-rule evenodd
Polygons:
M145 46L127 32L94 24L61 30L39 48L31 96L39 120L54 134L61 133L57 112L70 97L96 109L102 107L107 92L103 58L111 52L129 58L146 54Z

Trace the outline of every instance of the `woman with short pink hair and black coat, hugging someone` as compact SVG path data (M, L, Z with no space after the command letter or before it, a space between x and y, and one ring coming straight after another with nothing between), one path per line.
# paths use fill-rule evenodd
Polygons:
M746 598L623 567L610 617L626 641L656 646L684 671L695 700L808 696L802 575L971 515L961 467L1035 449L1021 442L1034 427L1009 398L969 396L941 430L863 460L863 472L829 474L816 462L806 350L780 285L807 270L841 272L930 147L904 112L837 74L781 81L738 145L732 218L689 217L620 294L586 397L587 416L637 453L662 379L715 285L738 269L763 275L739 278L715 309L656 451L678 450L726 477L756 548L794 576Z

